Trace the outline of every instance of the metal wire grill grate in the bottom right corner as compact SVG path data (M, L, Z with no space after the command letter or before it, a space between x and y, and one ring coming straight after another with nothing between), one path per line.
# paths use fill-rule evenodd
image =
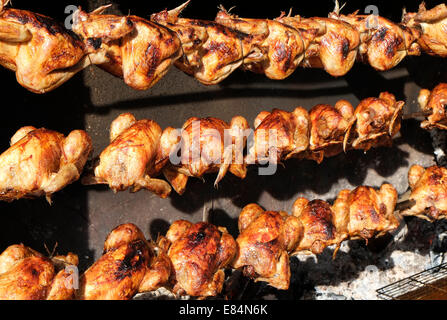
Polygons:
M384 300L447 300L447 263L377 290Z

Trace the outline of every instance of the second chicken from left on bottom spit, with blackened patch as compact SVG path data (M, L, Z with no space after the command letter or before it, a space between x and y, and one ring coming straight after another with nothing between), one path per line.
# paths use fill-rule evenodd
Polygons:
M171 264L163 252L154 249L134 224L119 225L108 235L103 256L81 276L76 298L127 300L164 286Z

